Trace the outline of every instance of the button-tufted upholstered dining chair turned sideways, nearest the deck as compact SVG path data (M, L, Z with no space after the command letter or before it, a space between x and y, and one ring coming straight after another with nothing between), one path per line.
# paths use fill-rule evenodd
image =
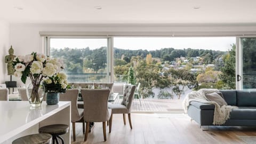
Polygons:
M126 84L124 87L124 97L123 97L122 103L121 104L108 103L108 108L112 109L112 114L109 120L109 132L111 132L111 128L112 128L113 114L123 114L124 124L126 124L125 114L128 114L129 124L132 129L131 107L132 107L132 100L134 97L135 89L136 89L135 85Z

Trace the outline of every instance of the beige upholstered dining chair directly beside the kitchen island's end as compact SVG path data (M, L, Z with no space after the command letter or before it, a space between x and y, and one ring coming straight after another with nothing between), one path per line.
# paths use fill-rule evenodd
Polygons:
M71 122L73 127L73 141L76 141L76 122L82 121L84 133L83 113L84 109L77 108L78 89L67 89L65 93L60 93L60 101L71 101Z

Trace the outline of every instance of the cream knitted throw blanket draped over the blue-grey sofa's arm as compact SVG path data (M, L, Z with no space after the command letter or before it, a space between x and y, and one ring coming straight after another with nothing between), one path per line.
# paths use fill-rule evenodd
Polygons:
M213 93L213 92L218 92L218 91L219 90L217 90L217 89L201 89L201 90L193 91L193 92L187 94L186 98L182 102L185 113L187 113L190 101L198 101L198 102L202 102L202 103L213 104L215 106L213 125L224 124L227 121L227 119L229 119L231 110L233 108L237 108L237 107L225 106L225 105L220 107L220 105L217 102L209 101L205 97L205 94L207 94L207 93Z

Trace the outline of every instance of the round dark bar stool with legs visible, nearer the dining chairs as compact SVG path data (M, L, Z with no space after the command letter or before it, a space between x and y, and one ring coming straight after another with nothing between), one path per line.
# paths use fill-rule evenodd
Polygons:
M51 134L53 144L55 142L57 144L59 143L57 138L59 138L63 144L64 140L63 140L63 138L60 137L60 135L67 133L68 130L69 130L69 126L66 124L53 124L53 125L46 125L46 126L40 127L38 129L38 132Z

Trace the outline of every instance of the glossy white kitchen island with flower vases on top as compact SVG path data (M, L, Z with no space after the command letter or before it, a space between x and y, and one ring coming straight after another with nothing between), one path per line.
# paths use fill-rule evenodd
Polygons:
M0 143L12 143L13 140L28 134L38 133L39 127L51 124L70 126L69 101L60 101L58 105L46 105L31 109L28 101L0 101ZM65 143L70 143L70 130L61 135Z

